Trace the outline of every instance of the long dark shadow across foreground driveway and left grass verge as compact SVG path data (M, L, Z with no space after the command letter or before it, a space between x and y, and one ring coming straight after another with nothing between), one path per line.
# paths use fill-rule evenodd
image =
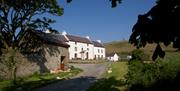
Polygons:
M31 81L21 85L8 86L2 91L86 91L97 79L95 77L82 76L61 80Z

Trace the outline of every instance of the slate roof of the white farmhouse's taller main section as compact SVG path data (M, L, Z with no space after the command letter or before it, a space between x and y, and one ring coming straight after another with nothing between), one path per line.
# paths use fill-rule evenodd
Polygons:
M89 39L85 37L79 37L79 36L74 36L74 35L66 35L66 36L69 39L69 41L93 44Z

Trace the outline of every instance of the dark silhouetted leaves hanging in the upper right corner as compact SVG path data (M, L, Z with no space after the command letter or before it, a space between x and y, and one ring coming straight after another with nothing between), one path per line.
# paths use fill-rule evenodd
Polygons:
M157 0L147 13L138 16L129 42L137 48L145 47L147 43L156 43L152 57L155 60L165 55L159 43L165 46L172 43L174 48L180 48L179 30L180 0Z

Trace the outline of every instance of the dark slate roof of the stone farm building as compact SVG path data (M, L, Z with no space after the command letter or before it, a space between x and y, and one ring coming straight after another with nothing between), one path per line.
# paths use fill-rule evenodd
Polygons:
M43 42L47 44L53 44L61 47L70 47L66 43L66 39L63 35L60 34L50 34L50 33L44 33L41 31L32 31L33 34L35 34L39 39L41 39Z

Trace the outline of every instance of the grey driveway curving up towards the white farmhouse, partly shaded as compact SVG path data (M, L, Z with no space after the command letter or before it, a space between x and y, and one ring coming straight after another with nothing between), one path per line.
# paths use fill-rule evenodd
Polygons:
M68 80L59 81L34 91L86 91L89 86L102 77L108 63L71 65L83 69L83 72Z

